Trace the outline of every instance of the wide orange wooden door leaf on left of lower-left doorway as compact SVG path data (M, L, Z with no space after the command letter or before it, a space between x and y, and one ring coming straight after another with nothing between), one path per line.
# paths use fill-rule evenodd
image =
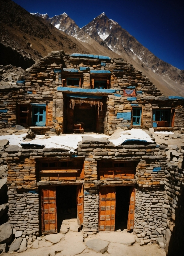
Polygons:
M56 187L42 188L42 233L57 233Z

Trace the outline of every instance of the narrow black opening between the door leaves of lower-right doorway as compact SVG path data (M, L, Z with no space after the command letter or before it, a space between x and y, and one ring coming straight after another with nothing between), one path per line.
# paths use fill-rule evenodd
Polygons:
M127 228L130 188L116 187L115 230Z

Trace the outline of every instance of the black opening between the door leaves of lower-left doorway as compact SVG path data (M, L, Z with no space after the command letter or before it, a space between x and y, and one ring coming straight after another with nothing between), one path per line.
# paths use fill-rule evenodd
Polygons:
M77 218L77 186L56 187L57 231L64 219Z

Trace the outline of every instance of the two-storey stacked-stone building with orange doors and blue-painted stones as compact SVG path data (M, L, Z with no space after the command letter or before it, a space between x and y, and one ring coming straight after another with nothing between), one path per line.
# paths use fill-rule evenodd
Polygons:
M123 59L63 51L1 89L1 128L28 128L23 143L2 148L14 229L36 237L77 218L83 232L127 228L145 243L160 237L168 246L182 166L172 166L149 128L183 128L184 98L163 95ZM83 137L76 148L49 147L47 139L31 140L35 134L59 135L58 145L63 134Z

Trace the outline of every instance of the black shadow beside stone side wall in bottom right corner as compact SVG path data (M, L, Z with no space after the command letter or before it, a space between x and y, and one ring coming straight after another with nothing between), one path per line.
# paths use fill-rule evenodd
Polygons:
M169 248L168 248L168 256L182 256L184 255L184 205L183 205L183 186L181 188L181 196L180 201L178 202L178 209L175 212L176 219L175 219L175 227L172 232L170 241L169 241Z

